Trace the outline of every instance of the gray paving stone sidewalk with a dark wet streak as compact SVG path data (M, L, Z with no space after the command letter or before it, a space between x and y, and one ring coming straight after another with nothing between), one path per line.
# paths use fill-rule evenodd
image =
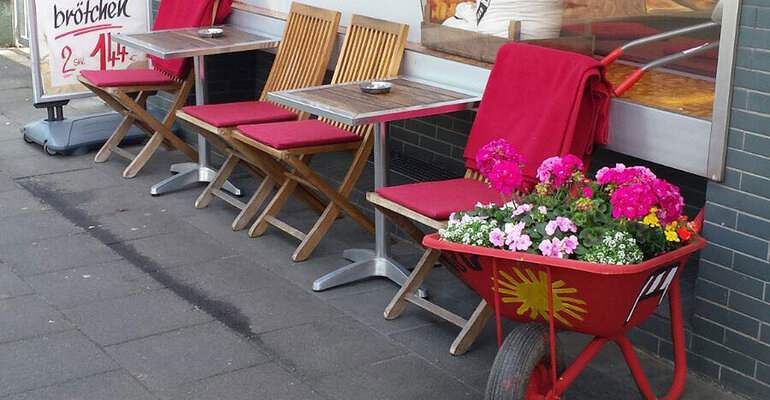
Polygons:
M196 210L201 188L160 197L149 187L177 153L160 152L135 179L115 157L50 157L25 143L29 69L0 52L0 399L480 399L496 352L492 327L461 357L457 328L408 308L382 311L396 287L368 280L315 293L311 282L372 238L347 219L313 257L275 230L233 232L220 201ZM67 107L78 113L94 102ZM89 105L90 104L90 105ZM251 193L256 182L235 182ZM290 204L287 218L313 219ZM419 254L396 246L405 263ZM469 315L475 294L441 271L433 300ZM506 324L506 329L511 328ZM586 338L564 334L574 356ZM642 355L658 393L669 363ZM639 398L619 351L607 348L567 394ZM695 376L683 399L734 399Z

